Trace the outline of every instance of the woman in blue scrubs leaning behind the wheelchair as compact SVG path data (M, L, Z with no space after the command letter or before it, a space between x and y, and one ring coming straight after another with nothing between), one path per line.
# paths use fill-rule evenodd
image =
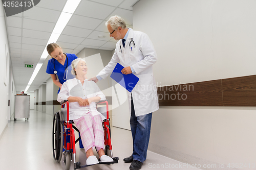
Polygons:
M77 57L75 54L63 53L62 48L55 42L48 44L46 49L52 57L48 61L46 72L51 75L53 83L59 87L59 93L62 84L67 80L68 67Z

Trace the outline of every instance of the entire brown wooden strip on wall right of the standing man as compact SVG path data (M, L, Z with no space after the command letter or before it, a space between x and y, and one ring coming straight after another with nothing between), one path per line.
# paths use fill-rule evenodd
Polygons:
M190 90L183 90L186 86L190 86ZM158 87L157 90L159 106L256 106L256 75ZM186 100L181 98L182 94L183 99L187 96Z

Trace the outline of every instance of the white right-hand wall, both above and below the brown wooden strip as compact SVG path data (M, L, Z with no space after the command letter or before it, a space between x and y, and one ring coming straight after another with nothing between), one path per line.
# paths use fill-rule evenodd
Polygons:
M140 0L133 7L133 28L155 46L158 84L255 75L255 8L252 0ZM160 107L153 113L149 150L193 164L255 163L255 111Z

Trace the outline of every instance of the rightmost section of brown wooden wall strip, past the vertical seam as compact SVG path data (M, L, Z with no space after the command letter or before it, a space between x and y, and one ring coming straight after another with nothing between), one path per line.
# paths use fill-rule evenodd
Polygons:
M222 80L224 106L256 106L256 75Z

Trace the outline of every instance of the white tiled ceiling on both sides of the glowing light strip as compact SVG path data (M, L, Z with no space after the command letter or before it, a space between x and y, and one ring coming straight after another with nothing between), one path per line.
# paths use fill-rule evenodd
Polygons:
M116 41L109 36L105 21L113 15L124 18L133 28L133 8L138 0L81 0L79 6L60 35L57 43L63 52L78 54L84 47L114 50ZM57 19L67 0L41 0L35 7L6 17L11 64L17 91L25 90L38 63ZM104 35L105 38L98 38ZM46 84L50 75L45 60L30 90ZM34 68L25 68L33 64Z

